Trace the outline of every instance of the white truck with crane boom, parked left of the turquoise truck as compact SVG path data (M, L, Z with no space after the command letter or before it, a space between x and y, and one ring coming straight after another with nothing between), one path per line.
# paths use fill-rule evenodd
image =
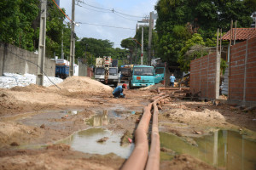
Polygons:
M96 58L94 75L97 81L117 87L119 82L118 60L113 60L110 56Z

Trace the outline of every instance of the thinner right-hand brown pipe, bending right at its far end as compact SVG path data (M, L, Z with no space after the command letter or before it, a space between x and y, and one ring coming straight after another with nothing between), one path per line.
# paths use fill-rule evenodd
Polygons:
M154 100L154 115L153 115L153 123L152 123L152 133L151 133L151 145L150 152L148 156L148 162L146 165L146 170L158 170L160 169L160 135L158 130L158 107L157 103L169 95L162 96L158 99Z

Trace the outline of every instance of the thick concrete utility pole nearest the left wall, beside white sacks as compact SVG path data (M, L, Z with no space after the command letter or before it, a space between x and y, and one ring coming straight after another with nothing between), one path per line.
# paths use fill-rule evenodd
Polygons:
M41 1L40 33L38 43L38 76L37 85L44 84L44 59L45 59L45 37L46 37L46 7L47 0Z

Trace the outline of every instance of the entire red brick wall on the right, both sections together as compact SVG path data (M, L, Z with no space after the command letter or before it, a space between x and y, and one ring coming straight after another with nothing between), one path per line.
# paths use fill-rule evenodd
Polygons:
M190 63L190 91L201 98L215 99L218 92L217 55L209 54ZM256 38L236 43L230 52L229 102L256 104ZM215 94L216 93L216 94Z

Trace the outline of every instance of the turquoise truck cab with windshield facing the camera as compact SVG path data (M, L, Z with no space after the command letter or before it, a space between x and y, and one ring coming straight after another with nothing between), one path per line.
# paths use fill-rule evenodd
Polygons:
M129 81L130 89L150 85L154 85L154 66L134 65Z

